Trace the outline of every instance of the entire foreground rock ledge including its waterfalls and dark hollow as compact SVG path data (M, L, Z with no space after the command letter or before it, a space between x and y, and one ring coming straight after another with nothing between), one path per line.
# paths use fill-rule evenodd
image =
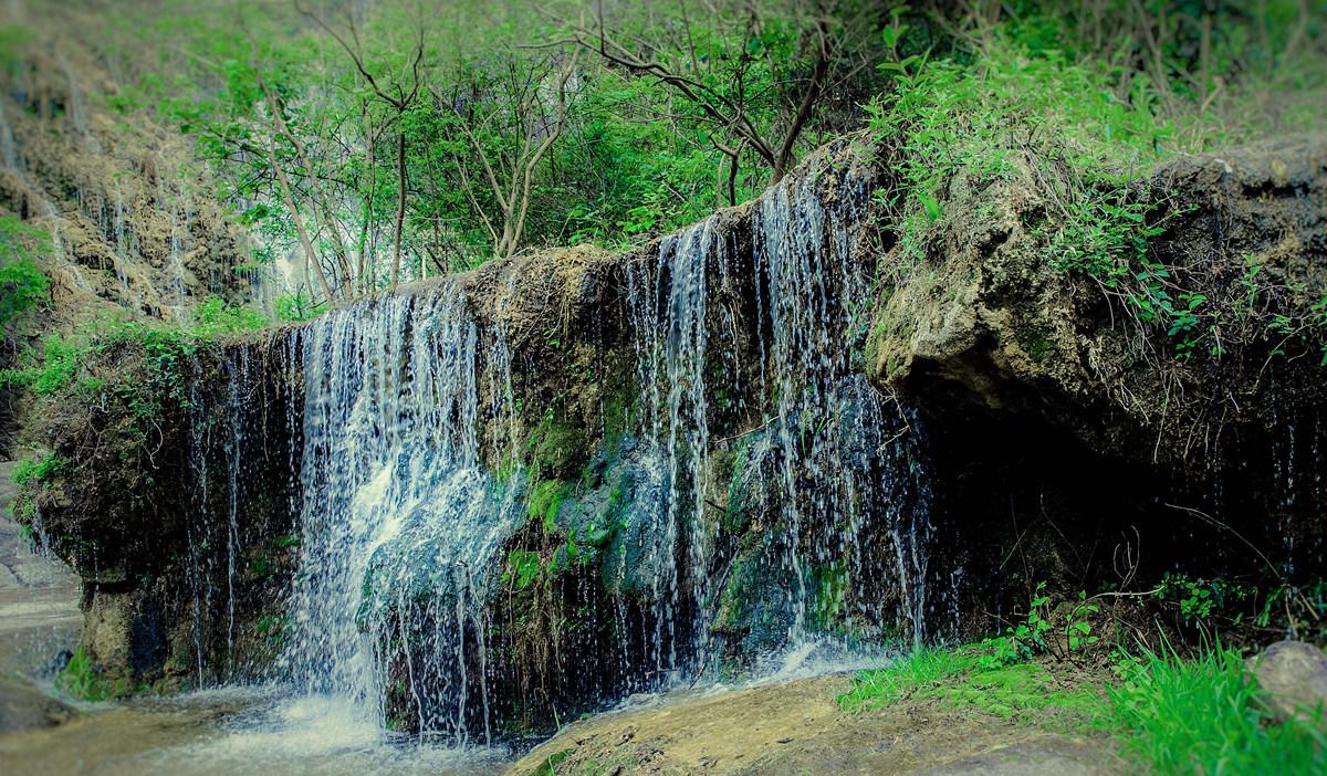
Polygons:
M1323 149L1139 184L1151 260L1213 300L1220 358L1051 269L1054 214L1018 182L955 182L905 265L881 157L843 142L630 253L492 263L202 348L159 409L178 431L118 399L50 424L69 466L35 520L85 578L102 670L279 675L471 740L971 633L1034 580L1311 574L1320 333L1225 314L1258 265L1258 321L1311 320ZM130 363L107 379L161 374Z

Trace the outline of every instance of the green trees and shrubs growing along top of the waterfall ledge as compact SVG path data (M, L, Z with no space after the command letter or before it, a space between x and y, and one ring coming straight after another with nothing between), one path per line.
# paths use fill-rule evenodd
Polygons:
M106 105L194 139L260 264L300 256L280 302L295 320L527 248L646 239L869 125L910 251L955 175L1030 166L1052 208L1046 260L1210 350L1202 292L1145 263L1157 203L1128 182L1312 129L1327 96L1322 9L1292 0L245 0L130 7L98 36L123 74Z

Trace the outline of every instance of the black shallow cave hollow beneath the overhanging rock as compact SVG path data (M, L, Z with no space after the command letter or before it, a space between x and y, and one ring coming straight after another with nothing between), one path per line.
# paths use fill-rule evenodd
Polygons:
M917 391L934 525L929 617L975 638L1062 596L1148 590L1168 574L1259 586L1322 577L1320 411L1230 424L1185 460L1112 447L1120 420L1035 401L993 407L953 381ZM1294 430L1294 432L1291 431Z

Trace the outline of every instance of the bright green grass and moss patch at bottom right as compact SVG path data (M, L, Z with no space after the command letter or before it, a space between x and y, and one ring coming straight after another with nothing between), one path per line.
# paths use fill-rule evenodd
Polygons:
M859 674L839 706L861 712L938 700L1051 730L1097 731L1154 773L1327 773L1327 727L1273 724L1238 650L1128 658L1104 695L1040 663L982 667L983 651L982 645L924 647Z

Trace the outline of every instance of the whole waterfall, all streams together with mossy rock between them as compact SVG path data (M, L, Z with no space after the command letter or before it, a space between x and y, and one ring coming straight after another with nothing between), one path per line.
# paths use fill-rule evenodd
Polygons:
M279 462L300 537L277 670L364 726L490 743L540 724L531 704L556 715L929 635L921 420L855 363L867 192L852 175L790 179L744 219L718 214L597 280L620 300L625 382L596 395L625 389L630 407L612 432L602 410L579 479L580 463L539 463L559 390L540 370L564 366L531 349L569 352L512 324L543 302L520 263L287 329L279 366L228 356L211 399L191 395L191 545L211 541L191 550L207 581L195 647L238 649L238 564L256 549L240 462L261 447L244 386L264 369L287 370L296 440Z

